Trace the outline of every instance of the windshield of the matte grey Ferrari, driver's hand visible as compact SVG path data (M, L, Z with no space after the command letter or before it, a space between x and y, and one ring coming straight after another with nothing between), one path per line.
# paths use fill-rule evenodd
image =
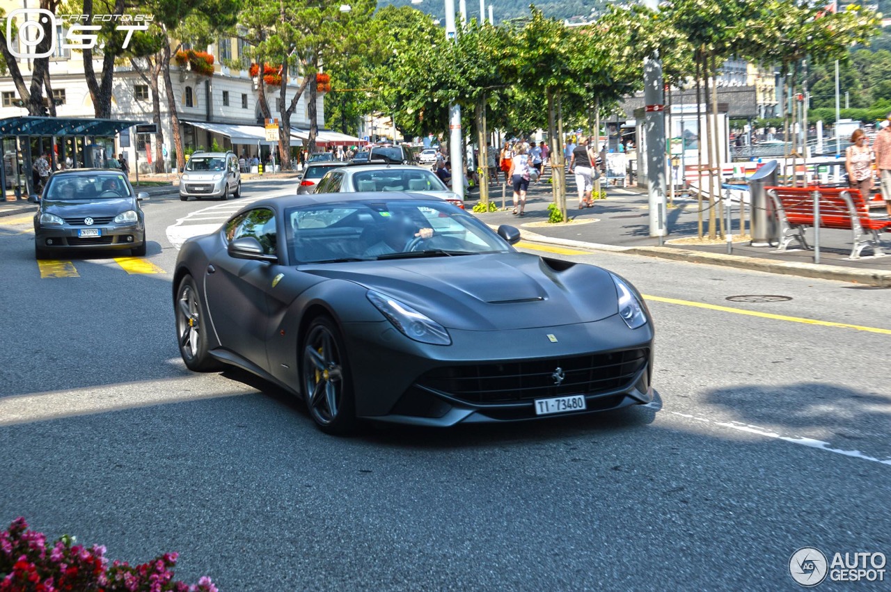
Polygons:
M439 200L315 204L291 208L285 219L290 255L305 264L513 250L485 224Z

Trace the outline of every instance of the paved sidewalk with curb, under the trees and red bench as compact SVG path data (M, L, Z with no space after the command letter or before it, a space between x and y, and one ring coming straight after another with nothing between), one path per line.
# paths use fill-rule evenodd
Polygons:
M776 247L752 247L750 240L734 237L732 254L727 254L725 240L719 244L673 244L686 242L697 236L698 204L696 199L675 197L674 206L668 210L668 236L665 245L659 246L658 238L650 238L650 209L645 191L635 187L606 187L607 199L594 202L594 207L578 209L576 183L568 178L567 213L570 223L548 223L548 204L552 203L550 171L539 183L529 186L526 215L512 215L513 191L504 191L506 211L477 214L483 222L497 227L499 224L517 226L525 240L543 242L562 247L609 250L634 255L647 255L693 263L717 264L764 272L783 273L810 278L841 280L891 288L891 255L866 256L849 260L853 244L851 231L820 229L820 264L813 263L813 250L798 249L790 245L785 253L776 253ZM490 185L490 200L502 205L502 182ZM468 210L478 203L478 191L465 196ZM884 214L874 210L873 215ZM739 207L732 210L732 231L739 234ZM703 215L703 227L707 233L707 212ZM748 211L746 228L749 229ZM808 231L813 244L813 231ZM882 247L891 253L891 234L879 235Z

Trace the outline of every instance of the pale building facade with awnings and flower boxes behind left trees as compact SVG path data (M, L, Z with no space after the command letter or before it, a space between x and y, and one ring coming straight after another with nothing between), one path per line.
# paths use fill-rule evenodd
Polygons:
M25 8L29 8L28 4L35 4L34 10L37 9L37 3L34 0L25 0L24 4ZM3 8L7 15L21 7L21 4L10 0L0 0L0 8ZM22 20L17 21L19 27L21 22ZM0 24L5 26L6 22ZM68 34L67 22L57 19L55 24L56 38L65 39ZM18 38L10 40L10 44L15 45L13 49L19 53L26 53L29 49ZM174 45L179 44L175 43ZM184 47L190 49L188 45L184 45ZM245 46L238 39L224 37L217 43L201 49L213 56L212 74L209 70L207 70L207 74L195 71L187 61L184 66L179 66L173 61L170 65L170 80L176 97L176 111L180 120L184 152L188 154L191 150L209 149L216 142L220 148L234 150L240 156L242 154L248 157L256 155L266 160L270 151L274 150L277 144L266 142L265 122L262 109L260 109L257 77L251 76L250 62L244 52ZM20 58L18 63L25 83L29 85L33 61ZM93 65L96 75L101 76L101 52L94 53ZM256 71L255 74L257 74ZM57 117L95 117L93 101L86 85L82 52L62 49L61 44L57 43L49 61L49 75ZM259 72L259 76L263 76L263 73ZM286 88L286 101L290 103L302 81L301 77L297 75L297 72L291 71L282 75L282 81ZM172 171L176 166L176 154L163 77L160 77L158 86L160 128L163 132L162 152L165 155L166 170ZM272 118L279 117L280 88L280 85L266 85L266 105ZM113 78L111 118L154 123L151 93L151 85L140 76L130 61L119 61L115 65ZM292 128L303 130L309 128L308 95L309 93L305 92L298 101L297 109L290 120ZM8 74L0 77L0 98L2 98L0 118L28 115L27 109L20 106L20 97L12 77ZM321 130L324 128L323 93L316 96L316 113L318 128ZM239 134L227 134L226 126L238 126ZM129 143L129 146L121 145L122 136L124 136L124 143ZM137 166L141 172L153 170L149 161L154 163L157 158L155 148L156 142L159 141L158 137L155 134L130 134L129 142L127 142L126 136L127 134L119 134L113 139L104 138L102 143L107 146L107 151L110 153L124 153L131 171L136 170ZM306 134L292 136L290 142L292 150L298 150L297 146L302 143L301 137L307 136ZM97 140L83 138L78 142L86 145L90 142L97 142ZM7 160L13 159L14 155L7 153L15 149L6 144L7 142L4 142L4 156ZM33 146L24 148L42 152L50 150L50 146L58 155L58 147L52 139L42 139L37 142L36 149ZM20 151L22 148L22 146L18 146L17 150ZM34 156L37 157L37 155ZM80 164L82 165L82 163Z

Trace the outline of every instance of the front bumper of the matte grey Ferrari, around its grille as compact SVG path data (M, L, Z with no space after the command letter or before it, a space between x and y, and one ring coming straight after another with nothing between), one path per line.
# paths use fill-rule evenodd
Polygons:
M448 346L413 342L386 321L346 329L356 415L364 419L454 426L614 410L653 398L651 325L629 329L618 315L550 328L450 329ZM558 370L566 378L555 385ZM584 411L535 414L536 399L574 394L584 395Z

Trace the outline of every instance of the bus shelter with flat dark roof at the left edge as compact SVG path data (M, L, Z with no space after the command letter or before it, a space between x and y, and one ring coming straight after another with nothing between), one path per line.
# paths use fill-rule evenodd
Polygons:
M49 154L50 171L110 166L115 136L144 121L22 116L0 119L3 166L0 186L4 200L26 199L37 193L34 161ZM114 164L117 166L117 163Z

